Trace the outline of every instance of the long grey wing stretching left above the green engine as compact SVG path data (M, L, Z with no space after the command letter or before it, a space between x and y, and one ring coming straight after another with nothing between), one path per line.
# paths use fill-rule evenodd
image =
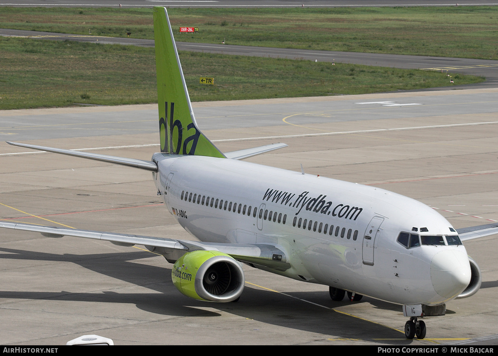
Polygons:
M104 240L119 246L143 245L151 252L163 255L170 263L173 263L187 252L206 250L220 251L232 256L237 261L252 265L259 265L277 270L286 270L290 268L284 251L275 244L217 244L151 236L18 224L4 221L0 221L0 228L34 231L41 233L43 236L53 238L74 236L86 239Z

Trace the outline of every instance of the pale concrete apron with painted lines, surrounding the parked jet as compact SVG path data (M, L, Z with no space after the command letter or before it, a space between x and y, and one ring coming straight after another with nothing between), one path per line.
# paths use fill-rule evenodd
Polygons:
M437 209L456 228L498 220L498 89L194 103L222 151L289 146L252 162L382 187ZM0 218L192 239L149 172L34 153L4 141L150 159L156 105L0 111ZM172 265L140 247L0 231L1 345L438 345L497 334L497 236L465 243L481 290L428 317L406 340L401 307L244 267L237 303L204 303L172 285ZM414 271L416 273L416 271Z

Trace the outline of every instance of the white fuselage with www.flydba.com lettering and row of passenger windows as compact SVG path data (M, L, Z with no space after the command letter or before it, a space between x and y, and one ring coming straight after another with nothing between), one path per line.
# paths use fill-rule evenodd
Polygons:
M169 211L204 242L274 244L286 270L268 271L399 304L456 297L471 271L450 223L383 189L231 159L155 154ZM443 244L405 247L400 233Z

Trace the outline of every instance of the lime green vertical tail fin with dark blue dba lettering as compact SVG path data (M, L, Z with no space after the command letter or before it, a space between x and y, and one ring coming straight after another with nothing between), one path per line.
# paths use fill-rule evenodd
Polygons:
M165 7L154 7L161 152L224 158L197 127Z

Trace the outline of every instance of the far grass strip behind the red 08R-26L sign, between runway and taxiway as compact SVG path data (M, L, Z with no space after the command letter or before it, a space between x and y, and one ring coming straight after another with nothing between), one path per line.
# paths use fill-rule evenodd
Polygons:
M177 41L498 59L498 6L172 8ZM1 7L0 28L153 38L150 8Z

